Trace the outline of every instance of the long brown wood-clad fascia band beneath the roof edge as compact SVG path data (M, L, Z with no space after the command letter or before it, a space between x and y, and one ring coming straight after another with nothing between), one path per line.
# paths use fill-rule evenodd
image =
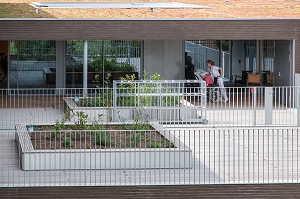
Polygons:
M0 40L295 40L300 73L300 19L0 19L0 26Z

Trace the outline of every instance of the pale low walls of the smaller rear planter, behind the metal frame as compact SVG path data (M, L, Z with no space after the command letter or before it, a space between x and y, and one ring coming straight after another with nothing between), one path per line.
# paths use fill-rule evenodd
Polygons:
M102 115L103 122L124 122L133 121L138 115L137 111L141 111L141 116L146 121L150 122L171 122L171 121L191 121L199 122L201 113L199 110L188 101L183 100L178 107L143 107L137 109L137 107L79 107L74 101L74 98L64 98L65 110L73 112L83 112L87 114L89 119L98 118L98 115ZM71 116L71 122L77 122L76 116Z

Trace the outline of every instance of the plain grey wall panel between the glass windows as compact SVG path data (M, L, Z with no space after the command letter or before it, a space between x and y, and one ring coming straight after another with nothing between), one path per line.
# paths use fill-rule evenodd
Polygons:
M148 74L158 73L164 79L184 79L183 41L145 41L144 69Z

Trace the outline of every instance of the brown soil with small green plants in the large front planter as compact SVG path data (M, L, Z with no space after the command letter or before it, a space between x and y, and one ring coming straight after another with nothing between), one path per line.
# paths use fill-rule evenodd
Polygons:
M36 150L175 147L154 129L124 130L123 125L104 125L104 129L72 130L72 126L68 126L64 131L49 131L49 126L39 126L35 127L35 132L29 134L33 148Z

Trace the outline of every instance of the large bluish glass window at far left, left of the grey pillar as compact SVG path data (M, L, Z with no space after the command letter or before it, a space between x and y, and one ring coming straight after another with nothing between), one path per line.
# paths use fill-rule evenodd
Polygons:
M9 42L9 88L55 87L55 78L46 76L55 68L55 41Z

